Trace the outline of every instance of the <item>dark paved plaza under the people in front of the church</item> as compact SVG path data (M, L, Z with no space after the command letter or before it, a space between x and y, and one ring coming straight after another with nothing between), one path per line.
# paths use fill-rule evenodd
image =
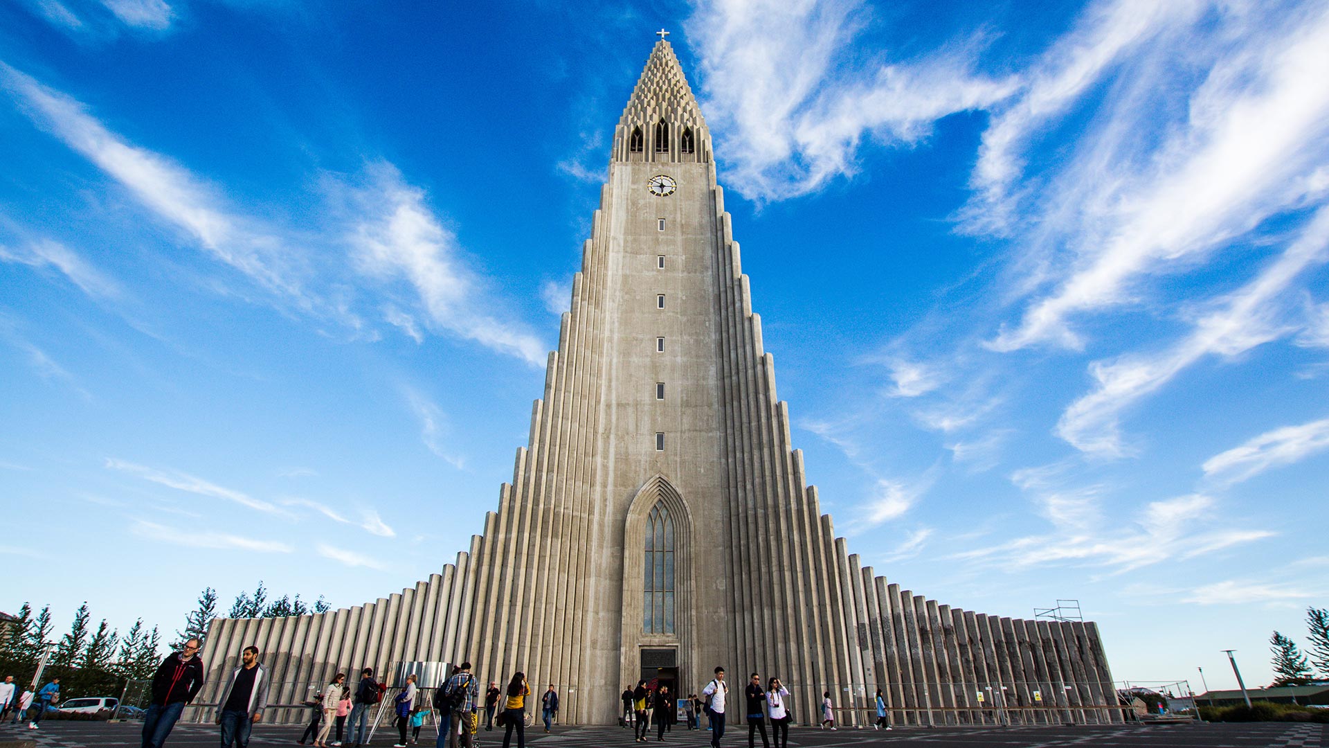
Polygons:
M84 748L97 745L138 745L138 724L58 723L43 724L40 731L0 728L0 743L13 739L32 739L39 747ZM262 727L254 731L251 745L295 745L300 729L290 725ZM423 736L421 736L423 737ZM502 733L481 732L478 745L497 748ZM686 748L707 748L706 731L674 731L664 744ZM396 741L396 731L379 732L372 745L388 747ZM606 745L635 745L627 729L613 727L556 728L545 735L541 728L528 732L528 743L542 748L601 748ZM654 732L651 743L655 743ZM215 747L217 729L211 725L178 725L167 740L167 748ZM433 737L421 740L433 747ZM1187 725L1126 725L1126 727L1013 727L1013 728L897 728L890 732L873 729L840 729L835 732L816 728L789 731L789 748L857 748L867 745L920 745L928 748L1329 748L1329 725L1259 723L1259 724L1187 724ZM516 745L516 736L513 737ZM746 748L747 729L732 729L724 735L726 748ZM760 745L760 739L758 740Z

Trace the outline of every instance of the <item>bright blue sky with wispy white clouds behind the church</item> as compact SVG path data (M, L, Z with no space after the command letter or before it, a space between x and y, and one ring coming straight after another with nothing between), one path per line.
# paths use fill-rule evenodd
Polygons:
M0 610L173 631L205 584L348 606L452 560L664 27L864 563L1078 598L1118 679L1304 643L1329 5L0 5Z

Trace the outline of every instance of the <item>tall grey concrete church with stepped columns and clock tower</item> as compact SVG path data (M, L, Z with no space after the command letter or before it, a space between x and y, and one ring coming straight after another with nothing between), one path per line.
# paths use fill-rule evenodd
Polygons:
M484 534L372 603L214 620L202 701L247 644L276 704L339 671L470 660L484 681L557 684L565 723L609 724L625 684L699 692L720 664L739 691L748 672L780 676L799 721L823 691L864 707L878 687L896 723L977 721L1003 692L1119 719L1091 708L1116 701L1092 623L938 604L835 536L776 399L706 121L664 40L614 130L529 446Z

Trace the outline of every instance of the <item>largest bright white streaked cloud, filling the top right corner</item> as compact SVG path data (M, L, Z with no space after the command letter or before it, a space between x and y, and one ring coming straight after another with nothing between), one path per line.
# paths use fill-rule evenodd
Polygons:
M1131 8L1138 3L1118 5L1123 23L1136 23ZM1209 17L1176 5L1180 13L1154 17L1196 23L1154 45L1146 56L1154 68L1132 69L1140 77L1130 92L1175 87L1184 65L1168 53L1208 56L1187 117L1144 157L1123 153L1127 145L1114 138L1131 128L1158 132L1159 113L1148 98L1119 101L1104 136L1111 142L1084 138L1078 146L1083 158L1071 158L1075 165L1061 176L1098 192L1050 196L1035 217L1039 232L1070 248L1066 274L1053 270L1054 290L1034 301L1018 325L1002 329L991 342L995 350L1042 342L1078 349L1083 341L1067 322L1071 314L1131 301L1139 293L1132 281L1184 270L1305 201L1306 177L1324 156L1308 145L1329 132L1329 89L1316 73L1329 68L1329 12L1312 4L1271 23L1265 13L1236 7ZM1235 49L1232 39L1241 40ZM1155 126L1140 126L1147 122ZM1111 164L1098 158L1114 153Z

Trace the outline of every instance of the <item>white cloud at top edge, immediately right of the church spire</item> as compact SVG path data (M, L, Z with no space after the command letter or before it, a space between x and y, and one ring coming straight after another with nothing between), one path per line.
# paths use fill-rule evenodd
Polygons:
M684 27L700 53L703 106L735 189L756 200L817 190L856 173L863 141L917 142L936 120L1015 88L973 73L958 48L853 65L844 52L865 16L855 0L696 5Z

